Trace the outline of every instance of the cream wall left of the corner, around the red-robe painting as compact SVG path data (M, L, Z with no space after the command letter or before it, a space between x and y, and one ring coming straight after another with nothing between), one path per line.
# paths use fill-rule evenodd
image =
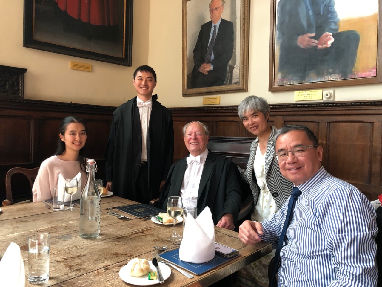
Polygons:
M119 106L136 96L133 73L147 64L150 0L134 1L132 67L23 47L23 0L0 1L0 65L27 68L25 98ZM70 61L92 64L92 72L70 69Z

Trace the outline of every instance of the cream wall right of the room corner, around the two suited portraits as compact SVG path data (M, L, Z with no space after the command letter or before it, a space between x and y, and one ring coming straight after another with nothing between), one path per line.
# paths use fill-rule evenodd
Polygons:
M293 91L273 93L268 91L270 1L272 0L251 0L248 92L220 95L222 106L238 105L249 95L262 96L270 103L293 103ZM181 95L181 24L181 0L151 1L149 63L160 75L155 92L159 95L159 101L167 107L202 106L203 96L183 97ZM336 101L382 98L382 84L333 89Z

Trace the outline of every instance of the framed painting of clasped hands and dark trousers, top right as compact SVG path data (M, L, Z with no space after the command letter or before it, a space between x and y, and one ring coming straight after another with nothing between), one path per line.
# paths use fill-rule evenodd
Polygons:
M315 18L308 16L306 9L309 8L304 7L307 4L303 3L302 0L271 1L269 91L310 90L382 82L381 0L322 0L316 2L321 7L312 13ZM291 12L286 14L285 11ZM304 46L301 41L297 44L299 37L308 33L317 32L317 35L309 37L318 41L321 31L325 30L320 31L317 27L321 25L330 30L329 21L333 31L336 31L332 33L334 42L329 47L320 46L322 49L317 49L318 46ZM352 47L357 41L358 46ZM332 49L331 52L329 49ZM309 56L308 50L312 52ZM322 51L326 51L326 54L322 54ZM317 52L321 54L316 56ZM341 57L348 61L341 60Z

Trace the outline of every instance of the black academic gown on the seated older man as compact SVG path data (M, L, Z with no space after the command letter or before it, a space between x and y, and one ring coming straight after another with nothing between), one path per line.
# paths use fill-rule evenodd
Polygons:
M179 196L187 167L186 158L174 163L162 192L160 192L159 207L167 210L169 196ZM208 152L197 194L197 214L208 206L216 225L223 214L233 215L236 224L240 212L241 191L236 165L226 157Z

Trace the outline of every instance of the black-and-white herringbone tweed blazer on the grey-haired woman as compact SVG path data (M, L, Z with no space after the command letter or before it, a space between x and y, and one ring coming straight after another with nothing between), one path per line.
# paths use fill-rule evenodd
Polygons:
M280 173L280 168L278 167L277 160L273 157L275 153L275 135L277 129L272 126L272 131L270 132L267 152L265 157L265 181L267 183L269 191L272 193L272 197L275 203L280 209L284 204L286 199L291 195L293 183L282 176ZM251 153L249 155L249 160L247 164L247 169L243 170L239 168L241 179L249 184L253 198L254 206L257 204L257 199L259 199L260 188L257 185L256 176L253 170L253 163L255 160L257 145L259 144L259 139L256 138L251 144Z

